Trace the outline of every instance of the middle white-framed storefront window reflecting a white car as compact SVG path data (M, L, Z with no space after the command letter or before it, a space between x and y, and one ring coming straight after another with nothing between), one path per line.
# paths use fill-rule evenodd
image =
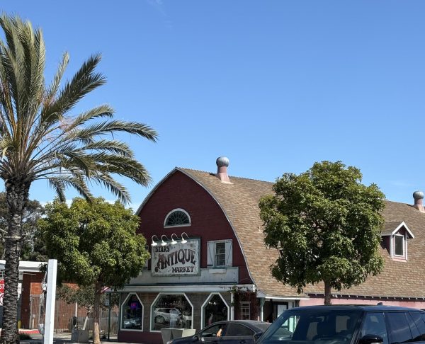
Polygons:
M192 328L193 306L184 294L159 294L152 304L152 331Z

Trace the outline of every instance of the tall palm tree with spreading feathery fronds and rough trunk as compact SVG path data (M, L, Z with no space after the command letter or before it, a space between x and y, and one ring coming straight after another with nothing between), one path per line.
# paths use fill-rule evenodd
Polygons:
M73 115L81 98L105 84L104 76L95 71L100 55L87 59L61 86L69 59L65 53L46 86L41 30L5 14L0 16L0 26L4 31L0 41L0 177L8 208L0 343L16 343L22 217L33 181L48 180L62 201L68 187L90 200L88 184L95 183L128 202L128 190L116 176L148 185L149 173L128 144L114 139L113 134L126 132L154 142L157 132L138 122L114 120L113 108L108 105Z

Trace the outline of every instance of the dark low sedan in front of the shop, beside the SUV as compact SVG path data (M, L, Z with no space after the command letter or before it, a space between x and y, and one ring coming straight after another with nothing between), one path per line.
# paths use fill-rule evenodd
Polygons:
M217 321L195 333L194 336L170 340L167 344L226 343L254 344L270 326L270 323L254 320Z

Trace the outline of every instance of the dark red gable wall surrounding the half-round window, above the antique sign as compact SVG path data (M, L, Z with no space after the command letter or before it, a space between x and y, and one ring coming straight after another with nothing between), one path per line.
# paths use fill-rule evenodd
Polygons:
M166 215L176 208L188 212L191 226L164 228ZM184 173L176 171L159 185L139 215L139 233L149 243L153 235L160 239L162 234L166 234L171 239L171 234L181 237L185 232L189 237L200 237L200 268L207 268L207 241L232 239L233 266L239 267L239 282L252 282L242 250L222 209L205 189Z

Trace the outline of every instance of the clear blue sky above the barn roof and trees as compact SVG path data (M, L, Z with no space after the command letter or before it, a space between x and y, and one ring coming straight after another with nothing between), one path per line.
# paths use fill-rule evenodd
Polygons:
M109 103L154 127L157 144L123 137L154 183L224 155L233 176L341 160L389 200L425 190L425 1L2 2L42 28L48 78L64 51L69 75L103 54L108 84L79 110ZM150 189L126 185L137 208Z

